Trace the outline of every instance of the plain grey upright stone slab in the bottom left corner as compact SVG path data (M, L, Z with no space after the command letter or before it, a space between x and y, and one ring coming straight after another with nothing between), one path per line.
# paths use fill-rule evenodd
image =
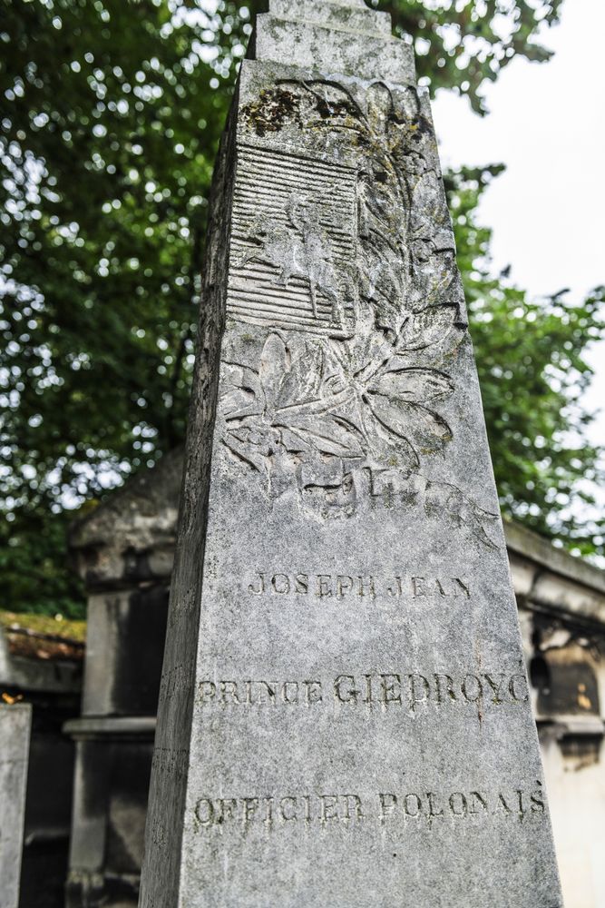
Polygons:
M32 707L0 704L0 908L17 908Z

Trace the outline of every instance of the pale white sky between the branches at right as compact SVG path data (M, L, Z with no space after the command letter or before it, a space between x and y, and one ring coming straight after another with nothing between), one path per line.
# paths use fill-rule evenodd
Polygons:
M581 300L605 283L605 0L566 0L561 24L544 29L548 63L514 59L485 89L490 114L440 92L433 105L444 167L504 163L485 192L481 222L493 228L494 272L535 296L569 287ZM603 411L590 429L605 444L605 341L594 344L586 403Z

